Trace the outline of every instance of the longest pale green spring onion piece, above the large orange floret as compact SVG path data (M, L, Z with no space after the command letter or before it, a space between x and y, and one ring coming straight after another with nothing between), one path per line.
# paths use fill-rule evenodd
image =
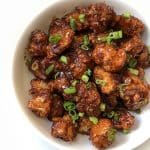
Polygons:
M120 30L120 31L110 32L108 36L105 36L102 38L98 37L98 40L111 44L112 40L118 40L118 39L121 39L122 37L123 37L122 31Z

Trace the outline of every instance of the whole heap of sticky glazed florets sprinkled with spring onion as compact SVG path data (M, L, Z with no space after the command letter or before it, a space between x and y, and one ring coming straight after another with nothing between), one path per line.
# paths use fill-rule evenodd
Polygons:
M143 32L142 21L129 12L117 15L99 3L53 18L48 33L31 33L26 63L35 78L27 105L53 122L52 136L73 141L86 134L104 149L117 131L132 129L130 111L148 104Z

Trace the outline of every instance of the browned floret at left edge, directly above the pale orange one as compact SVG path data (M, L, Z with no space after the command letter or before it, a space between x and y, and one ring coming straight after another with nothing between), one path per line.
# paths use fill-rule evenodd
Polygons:
M48 86L48 82L45 82L40 79L32 79L30 81L31 89L29 93L33 96L41 95L41 94L47 94L49 95L50 89Z

